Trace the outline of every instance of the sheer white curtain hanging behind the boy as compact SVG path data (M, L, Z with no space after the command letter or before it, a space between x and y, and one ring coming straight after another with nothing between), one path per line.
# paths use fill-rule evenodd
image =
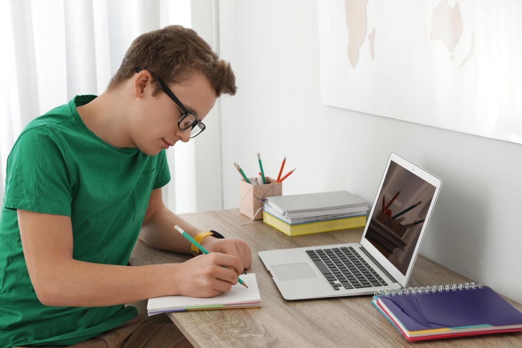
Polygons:
M190 0L6 0L0 13L0 201L8 154L27 123L77 94L102 93L138 35L191 27ZM168 151L163 196L173 211L197 210L194 158L193 141Z

